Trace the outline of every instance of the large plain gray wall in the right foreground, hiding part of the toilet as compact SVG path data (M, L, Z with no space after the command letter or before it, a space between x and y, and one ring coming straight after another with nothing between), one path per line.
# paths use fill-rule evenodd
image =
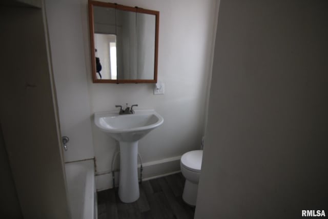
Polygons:
M328 213L327 10L221 1L195 218Z

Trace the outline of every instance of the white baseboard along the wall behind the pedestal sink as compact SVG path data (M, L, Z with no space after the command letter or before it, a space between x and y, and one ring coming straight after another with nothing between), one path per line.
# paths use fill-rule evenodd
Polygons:
M142 164L142 181L151 180L170 174L180 172L181 156L170 157L159 161ZM140 165L138 165L138 177L140 176ZM119 171L115 172L115 186L119 183ZM113 188L113 177L111 172L100 172L96 174L97 191Z

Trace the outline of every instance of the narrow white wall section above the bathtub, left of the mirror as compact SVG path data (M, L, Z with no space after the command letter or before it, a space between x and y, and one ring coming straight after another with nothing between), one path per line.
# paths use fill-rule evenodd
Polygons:
M89 41L83 29L88 24L87 7L79 0L49 0L45 7L61 135L70 138L65 162L94 158L84 50Z

